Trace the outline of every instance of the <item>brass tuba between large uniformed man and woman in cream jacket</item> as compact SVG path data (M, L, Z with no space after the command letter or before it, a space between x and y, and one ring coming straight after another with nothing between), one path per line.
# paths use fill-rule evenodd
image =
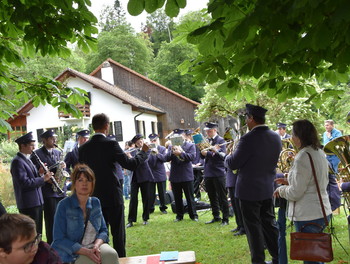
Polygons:
M298 152L292 138L282 139L282 151L278 157L277 166L282 173L288 173L292 167L294 157Z

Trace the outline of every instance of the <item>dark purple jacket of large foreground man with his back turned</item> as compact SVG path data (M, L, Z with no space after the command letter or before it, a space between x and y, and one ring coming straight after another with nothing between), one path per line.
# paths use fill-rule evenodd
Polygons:
M272 199L274 179L282 142L267 126L258 126L241 137L226 166L238 169L235 197L241 200Z

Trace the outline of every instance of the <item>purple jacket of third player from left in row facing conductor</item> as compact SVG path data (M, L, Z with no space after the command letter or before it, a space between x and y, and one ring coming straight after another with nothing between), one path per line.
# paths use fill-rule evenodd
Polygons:
M170 167L170 182L187 182L193 181L192 161L196 156L196 147L193 143L184 142L181 146L183 151L179 158L172 154L171 147L168 153L164 156L164 161L171 161Z

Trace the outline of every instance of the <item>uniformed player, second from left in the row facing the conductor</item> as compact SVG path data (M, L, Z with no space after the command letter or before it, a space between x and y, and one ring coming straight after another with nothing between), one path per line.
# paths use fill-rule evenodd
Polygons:
M152 171L154 182L151 182L150 189L150 212L154 212L154 201L156 197L156 187L159 197L159 209L163 214L166 214L168 207L165 205L165 193L166 193L166 172L164 167L164 159L162 156L166 154L166 148L159 144L159 136L152 133L148 136L150 143L154 144L154 148L151 149L151 154L148 158L148 165Z

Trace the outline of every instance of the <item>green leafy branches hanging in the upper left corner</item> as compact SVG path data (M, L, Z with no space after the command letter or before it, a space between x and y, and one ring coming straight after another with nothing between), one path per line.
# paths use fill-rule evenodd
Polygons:
M0 1L0 104L11 106L19 98L31 99L34 105L50 103L59 110L81 115L75 105L84 103L84 92L65 87L44 76L25 80L11 71L13 65L25 65L24 58L70 55L69 45L76 43L84 51L94 46L97 33L89 0L14 0ZM13 111L2 108L0 132Z

